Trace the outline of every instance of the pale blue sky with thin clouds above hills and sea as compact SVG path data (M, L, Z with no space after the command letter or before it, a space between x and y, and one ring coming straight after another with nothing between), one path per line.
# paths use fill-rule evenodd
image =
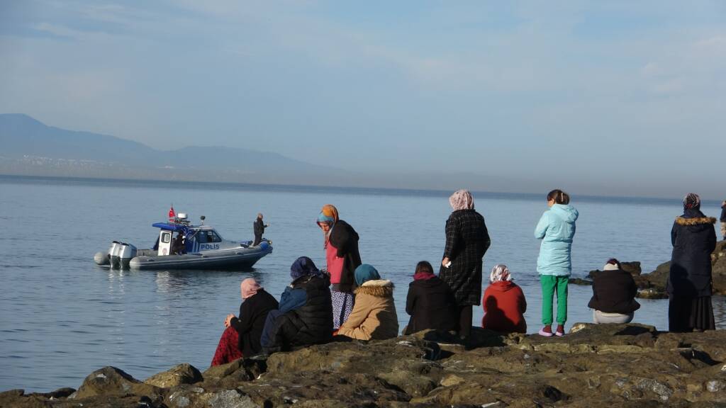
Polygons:
M725 95L724 1L0 0L0 113L162 149L718 199Z

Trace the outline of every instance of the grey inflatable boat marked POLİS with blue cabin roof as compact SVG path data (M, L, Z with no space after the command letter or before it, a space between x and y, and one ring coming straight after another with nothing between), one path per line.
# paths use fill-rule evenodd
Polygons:
M174 210L171 210L174 211ZM136 249L126 242L113 241L106 253L96 253L94 261L111 269L244 269L272 253L272 242L224 240L213 227L192 225L187 214L171 216L168 222L158 222L154 248Z

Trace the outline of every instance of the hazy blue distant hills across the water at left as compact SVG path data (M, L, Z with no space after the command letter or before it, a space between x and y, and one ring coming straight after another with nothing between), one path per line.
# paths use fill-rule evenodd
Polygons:
M0 114L0 171L9 174L306 181L330 173L283 155L230 147L155 150L105 134L69 131L22 114ZM100 172L100 174L98 174ZM60 173L60 174L59 174Z

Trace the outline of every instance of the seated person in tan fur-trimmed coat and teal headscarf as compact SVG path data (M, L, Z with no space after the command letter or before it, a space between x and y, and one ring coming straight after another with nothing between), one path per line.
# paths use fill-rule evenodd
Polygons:
M356 301L338 335L356 340L384 340L399 335L393 283L381 280L378 271L368 264L358 266L354 275Z

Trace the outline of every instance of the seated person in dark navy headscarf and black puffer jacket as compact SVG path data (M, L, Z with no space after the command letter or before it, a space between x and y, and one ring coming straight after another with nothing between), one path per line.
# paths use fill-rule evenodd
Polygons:
M271 311L261 343L266 354L327 343L333 338L330 277L301 256L290 266L293 282L280 296L280 309Z

